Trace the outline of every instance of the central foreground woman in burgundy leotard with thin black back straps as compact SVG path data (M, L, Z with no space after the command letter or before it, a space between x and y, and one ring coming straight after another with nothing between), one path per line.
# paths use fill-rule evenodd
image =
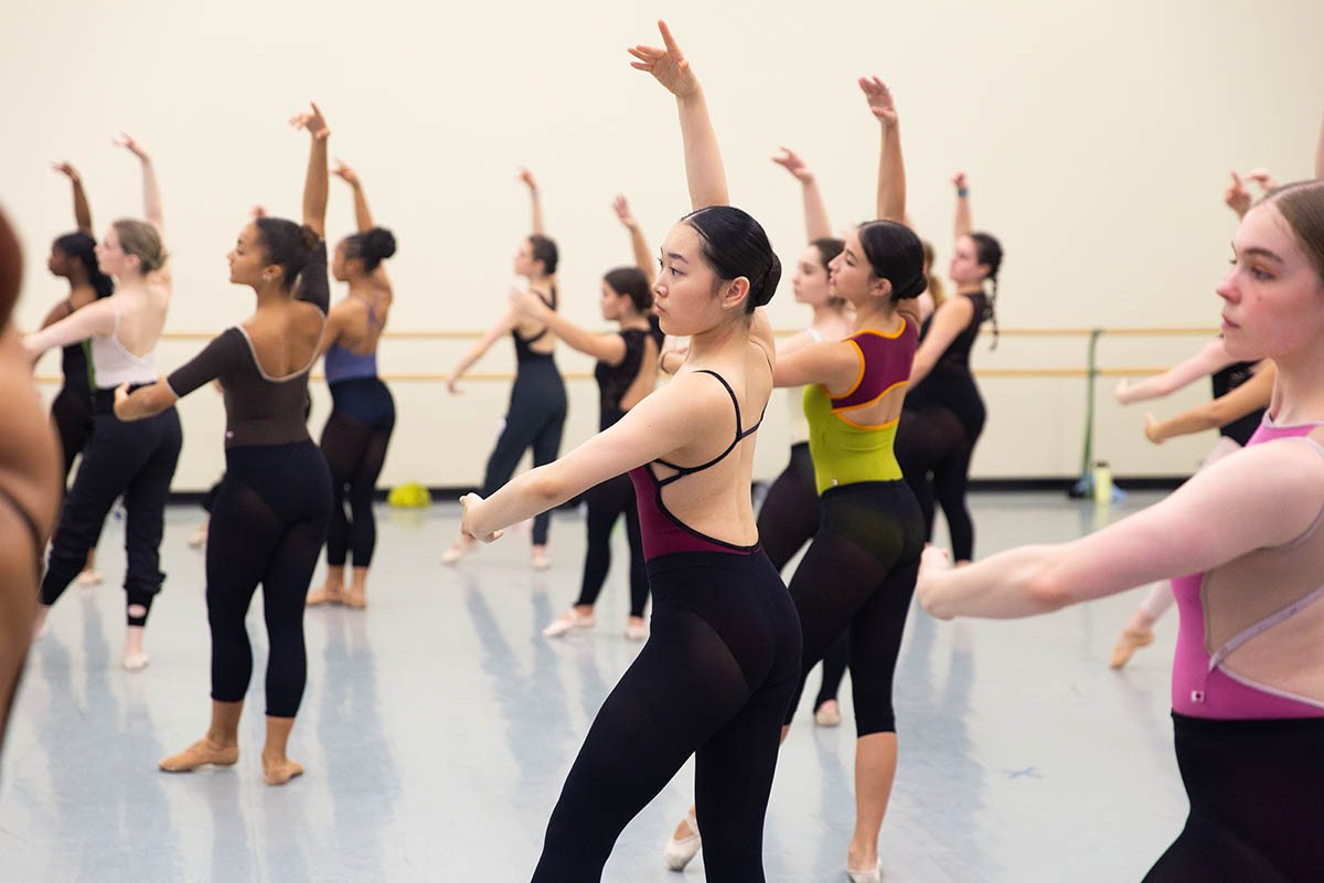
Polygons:
M626 470L638 494L653 634L602 704L547 827L535 883L597 880L625 825L695 755L708 879L757 883L800 627L759 545L752 436L772 393L768 302L781 266L757 221L728 207L703 90L663 23L638 70L675 95L694 210L662 244L662 330L690 338L677 376L614 426L489 499L463 531L499 531Z

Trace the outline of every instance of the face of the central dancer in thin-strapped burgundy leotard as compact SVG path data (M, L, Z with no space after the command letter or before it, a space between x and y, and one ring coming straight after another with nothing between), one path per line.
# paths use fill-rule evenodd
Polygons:
M744 277L719 279L703 258L703 237L688 224L677 224L662 242L653 310L663 332L688 338L743 314L748 286Z

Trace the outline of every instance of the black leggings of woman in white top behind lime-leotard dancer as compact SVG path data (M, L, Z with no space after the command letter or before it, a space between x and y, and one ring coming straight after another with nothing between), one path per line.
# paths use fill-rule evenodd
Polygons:
M763 543L768 560L780 572L817 532L818 486L814 481L814 461L809 454L809 442L797 442L790 446L786 469L763 498L759 508L759 541ZM814 710L837 698L849 659L850 631L846 630L824 657L824 678L814 699Z

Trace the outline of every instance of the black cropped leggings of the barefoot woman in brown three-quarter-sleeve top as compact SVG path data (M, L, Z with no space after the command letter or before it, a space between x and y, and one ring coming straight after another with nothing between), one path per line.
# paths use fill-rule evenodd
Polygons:
M293 718L307 655L303 598L331 518L331 475L311 441L229 447L207 537L212 699L240 702L253 676L244 618L258 584L270 653L266 714Z

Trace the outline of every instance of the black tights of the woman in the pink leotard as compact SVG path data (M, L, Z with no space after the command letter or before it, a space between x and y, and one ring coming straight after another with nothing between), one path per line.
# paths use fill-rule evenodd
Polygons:
M1319 880L1324 719L1172 718L1190 817L1145 883Z

